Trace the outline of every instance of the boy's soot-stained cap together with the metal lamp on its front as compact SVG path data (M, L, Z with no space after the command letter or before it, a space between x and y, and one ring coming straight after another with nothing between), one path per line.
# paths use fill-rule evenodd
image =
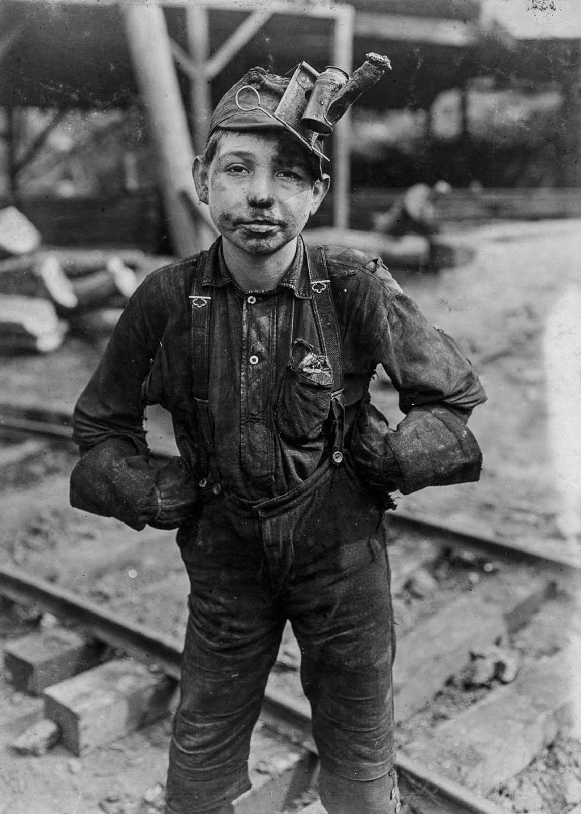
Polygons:
M390 60L378 54L368 54L351 77L333 66L319 73L306 62L300 63L290 78L251 68L216 105L208 138L216 129L286 129L317 156L321 177L322 162L329 161L323 139L388 68Z

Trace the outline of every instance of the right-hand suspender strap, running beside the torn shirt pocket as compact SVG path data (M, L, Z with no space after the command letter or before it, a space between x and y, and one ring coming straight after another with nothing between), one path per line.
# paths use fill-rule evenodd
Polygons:
M312 310L318 324L321 343L333 370L334 392L331 407L334 416L333 462L343 461L343 435L345 432L345 399L343 397L343 348L339 335L337 313L331 295L331 281L327 259L322 246L304 244L308 277L311 283Z

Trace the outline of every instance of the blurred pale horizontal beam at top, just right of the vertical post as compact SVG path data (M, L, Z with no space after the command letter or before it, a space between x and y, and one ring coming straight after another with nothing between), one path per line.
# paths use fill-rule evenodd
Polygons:
M413 17L400 14L376 14L358 11L355 19L356 37L403 42L426 42L430 45L474 45L478 29L460 20L439 20L435 17Z

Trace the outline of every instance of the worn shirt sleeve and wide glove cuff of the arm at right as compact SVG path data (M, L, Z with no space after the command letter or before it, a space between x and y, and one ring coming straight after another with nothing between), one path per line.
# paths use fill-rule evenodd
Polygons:
M430 325L382 265L369 291L365 321L375 337L370 365L383 366L404 413L395 431L386 422L375 466L379 469L385 457L386 483L404 494L478 480L482 453L466 426L471 411L487 398L476 371L456 341Z

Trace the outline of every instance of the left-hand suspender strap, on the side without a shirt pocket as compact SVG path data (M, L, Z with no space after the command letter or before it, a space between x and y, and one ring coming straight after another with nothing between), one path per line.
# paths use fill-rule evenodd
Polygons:
M207 486L208 477L211 476L215 484L214 489L216 489L216 485L219 488L220 479L216 469L214 440L208 405L212 297L208 295L208 291L202 285L207 263L208 252L202 252L198 266L194 271L194 282L190 293L190 340L194 373L192 392L200 440L199 469L202 473L202 479L199 485L202 488Z

